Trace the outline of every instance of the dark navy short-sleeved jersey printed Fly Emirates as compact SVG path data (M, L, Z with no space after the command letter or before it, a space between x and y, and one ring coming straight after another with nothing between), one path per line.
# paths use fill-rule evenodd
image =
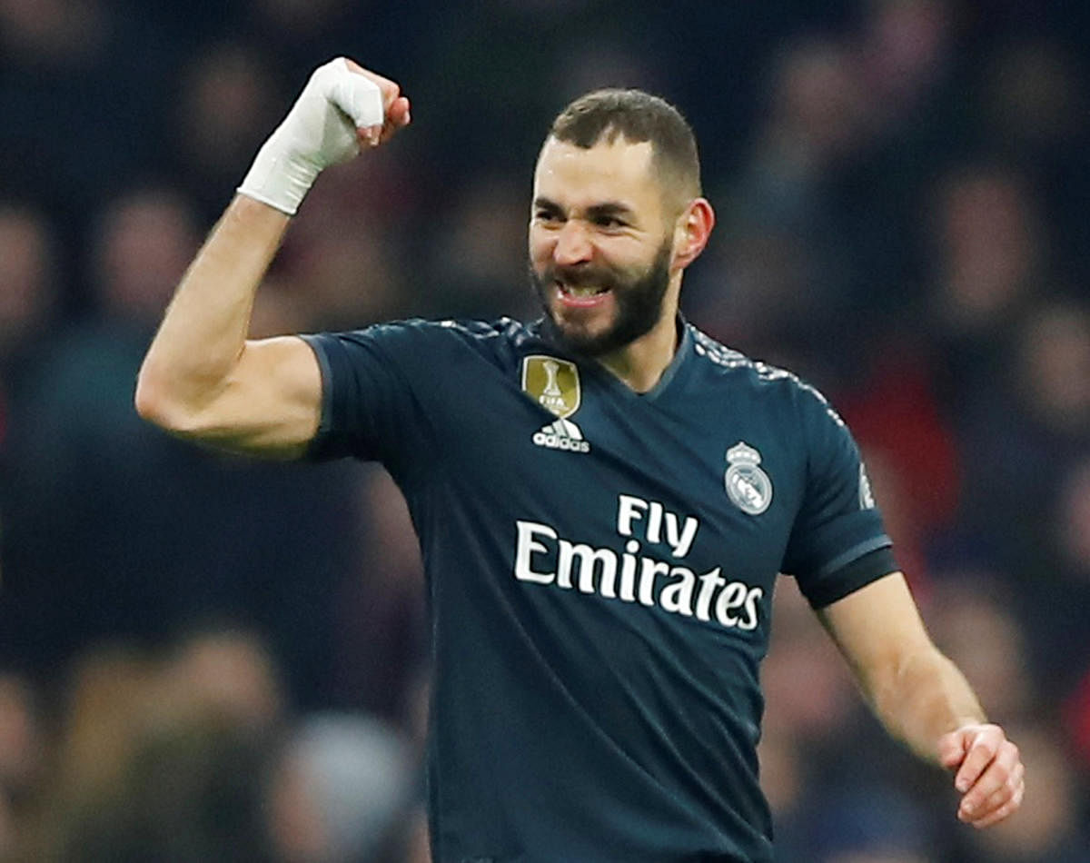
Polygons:
M896 567L825 399L679 327L643 394L509 319L305 337L313 457L382 462L423 549L436 863L772 860L777 573L821 607Z

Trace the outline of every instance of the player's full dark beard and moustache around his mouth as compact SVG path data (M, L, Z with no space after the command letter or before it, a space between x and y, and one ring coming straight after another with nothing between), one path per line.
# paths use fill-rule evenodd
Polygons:
M663 314L663 299L670 283L670 241L667 238L645 269L628 272L584 265L552 266L538 275L531 264L530 282L545 311L553 336L574 353L604 356L649 333ZM548 302L557 281L574 287L607 288L617 305L613 325L601 332L590 332L579 324L558 320Z

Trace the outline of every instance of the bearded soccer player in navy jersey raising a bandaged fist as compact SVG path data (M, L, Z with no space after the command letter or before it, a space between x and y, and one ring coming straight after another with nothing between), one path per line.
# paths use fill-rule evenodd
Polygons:
M1018 750L927 635L844 423L679 315L714 215L666 102L596 92L554 122L530 210L542 320L247 341L318 172L409 120L393 82L315 72L183 278L136 406L398 482L428 578L436 863L771 861L758 668L780 572L889 732L953 771L958 816L1017 810Z

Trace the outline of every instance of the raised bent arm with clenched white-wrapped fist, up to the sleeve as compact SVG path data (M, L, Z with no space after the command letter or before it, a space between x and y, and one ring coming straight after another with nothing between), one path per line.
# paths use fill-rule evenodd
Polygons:
M393 82L343 58L314 73L182 278L141 367L141 416L223 449L303 453L320 416L317 360L298 337L247 340L254 296L317 174L408 122Z

